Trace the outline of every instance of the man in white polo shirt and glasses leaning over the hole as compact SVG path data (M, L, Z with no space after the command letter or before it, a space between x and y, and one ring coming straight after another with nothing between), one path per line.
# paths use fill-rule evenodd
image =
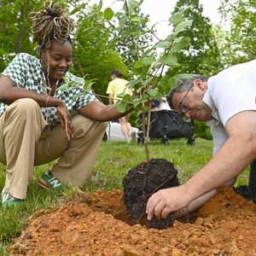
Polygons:
M212 127L213 157L183 185L152 195L146 208L148 219L154 214L166 218L170 212L194 211L218 186L232 186L250 164L250 177L256 176L255 96L256 61L229 67L209 79L193 75L170 91L167 101L171 108L184 119L207 121ZM256 194L255 183L248 187Z

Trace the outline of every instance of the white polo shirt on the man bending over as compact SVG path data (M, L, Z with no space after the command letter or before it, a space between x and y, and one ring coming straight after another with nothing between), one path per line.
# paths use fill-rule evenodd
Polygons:
M214 119L207 122L212 127L213 154L228 139L224 127L236 113L256 111L256 60L228 67L208 79L208 89L203 101L212 108Z

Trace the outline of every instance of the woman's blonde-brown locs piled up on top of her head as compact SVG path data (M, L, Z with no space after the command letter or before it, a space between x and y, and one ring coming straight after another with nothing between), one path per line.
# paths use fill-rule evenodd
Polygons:
M55 38L60 42L70 41L70 34L73 31L74 21L65 14L61 4L54 1L46 1L43 9L32 12L29 17L32 19L33 41L38 43L38 52L49 49L50 39Z

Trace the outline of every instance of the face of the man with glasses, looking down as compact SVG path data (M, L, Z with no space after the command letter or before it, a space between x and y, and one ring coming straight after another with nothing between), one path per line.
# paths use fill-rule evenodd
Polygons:
M175 92L172 96L173 107L184 118L191 118L197 121L208 121L212 119L212 109L202 101L207 91L207 83L197 79L191 84L188 90Z

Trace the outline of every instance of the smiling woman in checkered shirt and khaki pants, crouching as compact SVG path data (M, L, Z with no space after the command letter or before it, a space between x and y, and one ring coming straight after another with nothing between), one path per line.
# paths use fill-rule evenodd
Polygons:
M39 178L43 188L83 186L108 121L132 111L119 113L113 105L105 106L91 90L83 90L83 79L71 90L59 90L62 84L78 79L69 72L73 19L53 1L45 2L30 18L39 58L15 55L0 77L0 161L6 165L3 207L22 203L33 166L53 160L57 160L55 165Z

